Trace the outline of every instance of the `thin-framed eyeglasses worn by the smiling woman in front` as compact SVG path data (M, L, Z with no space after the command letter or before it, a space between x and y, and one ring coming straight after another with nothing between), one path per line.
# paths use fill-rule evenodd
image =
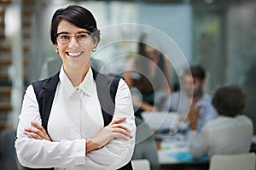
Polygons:
M86 42L89 37L92 37L90 32L77 32L75 34L68 34L67 32L60 32L56 34L56 38L61 44L67 44L71 41L72 37L75 37L78 42Z

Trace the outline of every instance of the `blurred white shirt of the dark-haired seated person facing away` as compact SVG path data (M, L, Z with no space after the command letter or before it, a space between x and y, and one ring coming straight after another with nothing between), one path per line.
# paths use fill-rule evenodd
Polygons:
M247 153L253 139L253 122L245 116L218 118L207 122L201 133L189 133L190 153L194 157Z

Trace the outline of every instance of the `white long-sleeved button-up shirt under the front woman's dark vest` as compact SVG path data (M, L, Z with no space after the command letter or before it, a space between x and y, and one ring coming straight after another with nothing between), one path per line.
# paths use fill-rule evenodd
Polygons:
M29 139L24 128L31 122L41 123L38 102L32 85L26 89L17 129L15 148L20 163L25 167L55 167L55 169L118 169L131 160L135 144L136 126L131 94L124 80L119 81L115 97L113 120L126 117L123 125L131 130L129 141L113 139L100 150L85 155L86 139L96 136L104 127L96 82L91 69L79 87L73 87L63 68L60 72L48 132L53 142Z

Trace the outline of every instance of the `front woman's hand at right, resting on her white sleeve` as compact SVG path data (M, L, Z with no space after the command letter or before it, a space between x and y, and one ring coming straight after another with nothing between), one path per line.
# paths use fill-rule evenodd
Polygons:
M119 118L109 123L108 126L102 128L102 131L97 133L96 136L92 139L89 139L90 142L96 144L96 148L102 148L104 145L114 138L129 140L132 135L131 131L124 125L119 124L120 122L125 122L126 117ZM90 149L87 149L87 152Z

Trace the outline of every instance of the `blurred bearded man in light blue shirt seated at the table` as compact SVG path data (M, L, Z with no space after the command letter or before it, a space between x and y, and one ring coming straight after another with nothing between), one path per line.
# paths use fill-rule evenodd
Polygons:
M190 66L183 72L181 91L170 95L163 106L163 110L177 111L183 120L188 114L198 115L196 122L197 130L200 132L207 122L218 116L211 103L212 97L203 91L205 82L206 72L204 69L200 65Z

